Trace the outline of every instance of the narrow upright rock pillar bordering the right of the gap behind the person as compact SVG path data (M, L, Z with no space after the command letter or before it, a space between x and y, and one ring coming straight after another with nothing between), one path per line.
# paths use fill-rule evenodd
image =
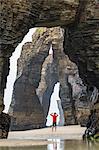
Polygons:
M62 108L64 111L65 125L75 124L76 120L73 115L74 105L72 101L72 88L70 83L68 82L68 73L67 73L68 70L67 66L68 65L70 66L70 64L68 64L68 57L65 56L63 52L64 30L62 30L61 28L57 28L55 30L53 28L52 35L53 35L52 46L54 51L54 60L56 61L57 64L58 80L60 82L59 95L61 98Z

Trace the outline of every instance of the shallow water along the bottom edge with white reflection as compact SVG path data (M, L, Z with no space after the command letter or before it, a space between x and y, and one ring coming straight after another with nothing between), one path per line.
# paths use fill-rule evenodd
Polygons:
M99 150L98 142L49 139L51 144L31 147L0 147L0 150Z

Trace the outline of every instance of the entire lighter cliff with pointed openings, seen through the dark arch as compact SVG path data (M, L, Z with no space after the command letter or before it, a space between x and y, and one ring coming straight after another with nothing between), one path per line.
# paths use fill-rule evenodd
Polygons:
M60 27L38 28L32 43L23 46L9 110L12 130L46 125L50 98L57 82L60 82L64 124L86 124L90 106L86 87L79 78L77 66L63 52L63 40L64 30Z

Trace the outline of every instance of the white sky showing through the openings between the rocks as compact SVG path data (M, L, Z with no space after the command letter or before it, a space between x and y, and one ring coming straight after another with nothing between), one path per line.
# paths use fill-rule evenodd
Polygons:
M36 29L37 28L32 28L29 30L27 35L23 38L22 42L16 47L15 51L10 57L10 72L7 77L7 84L6 84L5 94L4 94L4 104L5 104L4 112L6 113L9 110L9 105L11 103L11 98L12 98L13 85L16 79L17 59L20 57L22 46L24 45L24 43L32 42L32 35L36 31ZM52 53L52 51L50 51L49 53ZM59 83L55 85L54 92L51 96L50 109L49 109L49 114L47 117L47 125L51 125L50 113L56 112L59 115L59 110L58 110L57 101L56 101L56 100L59 100L58 94L59 94Z

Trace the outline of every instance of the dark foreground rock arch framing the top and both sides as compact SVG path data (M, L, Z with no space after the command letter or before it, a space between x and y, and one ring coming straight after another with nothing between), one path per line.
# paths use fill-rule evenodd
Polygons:
M89 93L94 92L94 88L99 89L97 0L0 0L0 4L0 113L9 57L27 31L35 26L64 27L65 54L77 64L80 77L88 84Z

